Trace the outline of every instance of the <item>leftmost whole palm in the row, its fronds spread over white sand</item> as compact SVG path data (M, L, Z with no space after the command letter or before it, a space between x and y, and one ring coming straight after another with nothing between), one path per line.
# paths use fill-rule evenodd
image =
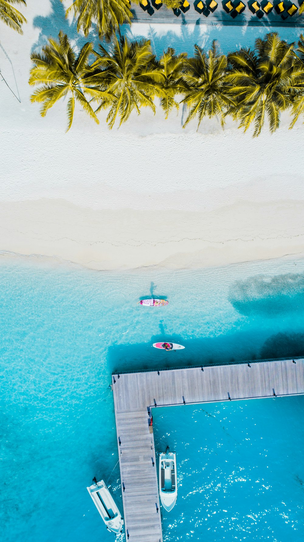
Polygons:
M69 95L68 130L72 125L75 100L99 123L89 101L103 98L109 104L111 95L96 87L93 70L88 63L91 54L94 54L92 43L85 43L76 57L68 36L62 31L59 33L59 42L49 38L49 44L42 47L41 54L31 54L34 66L30 70L29 83L39 85L31 96L31 102L43 104L40 112L42 117L58 100ZM85 95L89 96L89 101Z

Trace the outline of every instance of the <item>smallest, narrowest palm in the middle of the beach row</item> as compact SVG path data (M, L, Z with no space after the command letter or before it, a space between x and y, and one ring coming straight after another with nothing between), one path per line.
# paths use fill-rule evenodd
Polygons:
M184 59L186 58L187 53L176 55L174 49L168 48L167 53L164 53L160 59L160 69L163 75L161 107L165 112L166 119L173 107L179 109L179 103L175 101L175 95L181 94L185 88L182 71Z

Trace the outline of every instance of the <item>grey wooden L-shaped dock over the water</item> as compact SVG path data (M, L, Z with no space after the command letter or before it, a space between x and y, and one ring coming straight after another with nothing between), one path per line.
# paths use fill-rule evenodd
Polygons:
M112 376L125 537L162 542L151 408L304 394L304 359Z

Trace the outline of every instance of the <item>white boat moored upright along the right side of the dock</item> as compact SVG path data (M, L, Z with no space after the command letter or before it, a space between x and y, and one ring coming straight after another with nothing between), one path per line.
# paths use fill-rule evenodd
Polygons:
M166 453L160 454L158 483L161 504L167 512L174 507L177 499L176 455L167 446Z

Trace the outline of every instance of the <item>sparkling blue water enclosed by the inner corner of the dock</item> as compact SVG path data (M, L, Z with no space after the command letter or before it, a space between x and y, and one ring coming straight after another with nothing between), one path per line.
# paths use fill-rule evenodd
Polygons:
M164 540L303 540L303 397L154 409L158 450L176 450Z

